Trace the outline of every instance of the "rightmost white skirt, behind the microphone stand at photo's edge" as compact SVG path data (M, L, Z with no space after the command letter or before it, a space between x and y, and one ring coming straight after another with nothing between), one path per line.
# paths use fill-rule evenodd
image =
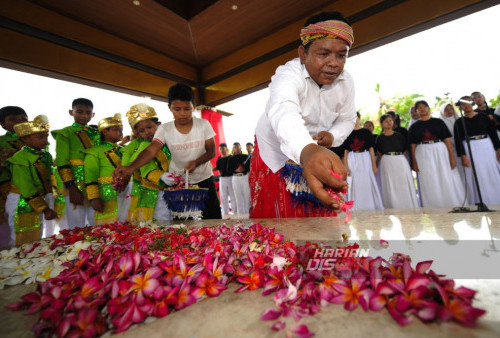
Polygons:
M469 148L465 141L463 144L470 162ZM477 180L481 188L483 202L485 204L500 204L500 164L497 161L496 152L490 138L471 140L470 147L472 156L474 156ZM469 203L479 203L472 167L465 167L465 178Z

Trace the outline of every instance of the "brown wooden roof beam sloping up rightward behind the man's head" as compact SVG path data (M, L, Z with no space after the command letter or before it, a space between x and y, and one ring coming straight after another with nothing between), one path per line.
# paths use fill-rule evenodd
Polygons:
M380 45L380 43L377 43L378 41L383 41L383 43L396 41L447 22L450 17L456 19L497 3L498 1L495 0L440 0L439 3L434 0L407 0L400 2L372 16L364 17L353 24L355 44L351 55L357 54L358 49L359 52L364 52L375 48ZM331 10L331 6L325 9ZM408 13L411 13L411 15ZM297 28L296 32L299 30L300 28ZM244 48L245 51L246 48ZM261 59L260 62L250 60L247 63L249 67L237 69L238 71L234 72L231 70L226 71L225 76L216 78L217 81L213 83L209 82L204 95L207 104L222 104L239 96L241 92L248 93L248 88L264 87L265 84L269 83L271 76L279 65L297 57L297 47L290 44L288 48L290 51L282 49L282 54L268 54L271 57L267 60ZM237 53L240 53L240 51ZM230 60L232 58L233 55L230 55L225 59ZM218 62L219 71L226 69ZM212 68L213 70L214 68Z

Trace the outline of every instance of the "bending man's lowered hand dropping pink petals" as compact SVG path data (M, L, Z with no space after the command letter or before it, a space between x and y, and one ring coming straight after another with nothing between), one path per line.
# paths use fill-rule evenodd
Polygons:
M302 174L307 180L309 189L325 206L338 210L340 204L330 196L325 186L335 190L347 190L345 179L347 171L340 158L329 149L311 143L302 149L300 154ZM339 174L342 180L333 177L330 170Z

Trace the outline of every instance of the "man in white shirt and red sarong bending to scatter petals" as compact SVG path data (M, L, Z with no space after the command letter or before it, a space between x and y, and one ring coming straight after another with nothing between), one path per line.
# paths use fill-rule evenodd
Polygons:
M347 188L346 170L328 148L340 146L356 121L354 82L344 71L352 27L338 12L320 13L306 21L301 41L299 58L278 67L272 77L270 99L257 123L251 217L329 216L339 204L324 187ZM326 212L292 205L279 173L287 160L300 163Z

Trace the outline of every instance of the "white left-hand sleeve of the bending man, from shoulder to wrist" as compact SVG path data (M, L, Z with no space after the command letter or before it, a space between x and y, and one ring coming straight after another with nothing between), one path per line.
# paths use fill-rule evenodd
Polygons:
M300 107L300 93L305 81L300 72L281 66L269 85L270 99L267 118L271 123L283 154L300 163L302 149L315 143L305 126Z

